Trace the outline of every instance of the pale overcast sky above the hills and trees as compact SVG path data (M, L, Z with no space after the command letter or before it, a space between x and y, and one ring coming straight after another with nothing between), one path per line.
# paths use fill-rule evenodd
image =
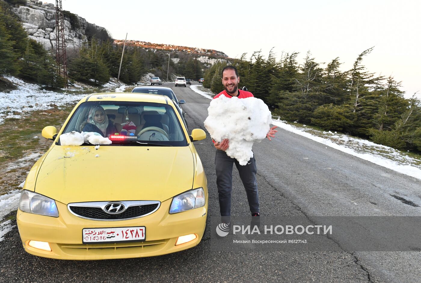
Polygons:
M54 3L53 0L47 0ZM339 57L342 70L375 46L363 64L421 92L421 1L130 1L63 0L63 9L107 28L115 39L216 49L229 57L270 49L310 50L316 62ZM323 65L325 66L325 65ZM421 94L418 94L421 98Z

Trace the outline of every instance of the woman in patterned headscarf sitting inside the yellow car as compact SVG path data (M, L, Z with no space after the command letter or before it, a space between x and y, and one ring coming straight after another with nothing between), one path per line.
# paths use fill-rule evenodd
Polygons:
M109 137L109 135L117 132L114 123L109 121L104 108L101 106L94 106L89 110L88 120L85 123L83 132L97 132L103 137Z

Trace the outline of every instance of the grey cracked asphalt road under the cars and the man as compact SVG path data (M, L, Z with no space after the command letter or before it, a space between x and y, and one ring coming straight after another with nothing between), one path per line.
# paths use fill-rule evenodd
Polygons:
M189 87L174 87L189 132L205 129L210 100ZM218 216L210 137L195 142L208 178L209 216ZM280 129L272 142L253 146L262 215L420 216L395 195L421 205L421 181ZM232 214L248 213L234 167ZM200 245L165 256L105 261L60 261L24 252L15 227L0 247L1 282L421 282L419 252L224 252L211 251L215 230ZM419 237L419 235L414 235ZM330 240L327 239L329 242ZM329 243L337 245L333 241ZM341 249L341 247L339 247Z

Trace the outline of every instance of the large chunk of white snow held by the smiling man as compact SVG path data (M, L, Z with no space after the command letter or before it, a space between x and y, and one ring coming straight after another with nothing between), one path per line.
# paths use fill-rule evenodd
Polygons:
M263 100L256 97L239 99L224 95L212 100L205 127L213 140L229 140L226 154L245 165L253 157L251 148L269 132L272 113Z

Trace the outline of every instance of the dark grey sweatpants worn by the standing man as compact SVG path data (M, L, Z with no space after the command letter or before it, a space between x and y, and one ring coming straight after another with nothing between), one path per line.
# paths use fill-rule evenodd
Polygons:
M235 163L241 181L247 193L250 212L259 212L259 193L256 181L256 159L254 156L242 166L237 159L226 155L225 151L219 149L215 154L216 185L219 194L219 209L221 216L231 216L231 190L232 190L232 164Z

